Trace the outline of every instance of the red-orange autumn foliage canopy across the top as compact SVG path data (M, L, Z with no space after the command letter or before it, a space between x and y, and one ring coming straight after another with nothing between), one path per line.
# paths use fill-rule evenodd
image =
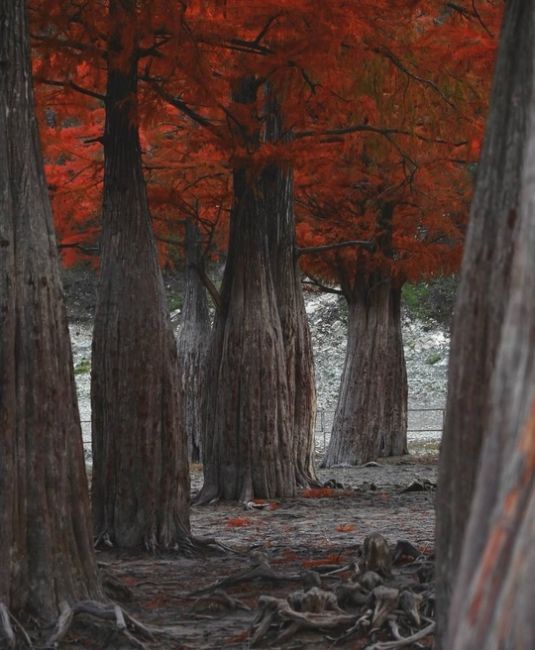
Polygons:
M296 170L302 246L377 243L381 211L395 206L392 250L306 256L306 271L340 282L356 264L411 279L454 268L500 19L494 3L477 4L138 3L122 29L140 59L132 119L162 254L184 218L200 221L209 250L223 248L233 166L275 160ZM72 262L99 232L106 3L33 0L32 23L47 174ZM263 92L233 100L247 76L280 103L279 142L262 140Z

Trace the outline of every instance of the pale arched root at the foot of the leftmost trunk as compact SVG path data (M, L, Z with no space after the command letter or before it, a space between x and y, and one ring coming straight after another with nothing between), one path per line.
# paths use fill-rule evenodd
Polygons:
M130 614L122 610L119 605L106 605L94 600L84 600L72 606L67 603L62 603L60 609L61 614L56 622L54 631L45 643L45 647L47 648L54 647L65 637L74 621L74 618L78 614L87 614L94 618L114 621L117 630L126 636L133 645L140 648L140 650L146 650L146 646L129 632L128 627L150 640L154 639L154 632L156 632L156 630L150 630L148 627L130 616Z

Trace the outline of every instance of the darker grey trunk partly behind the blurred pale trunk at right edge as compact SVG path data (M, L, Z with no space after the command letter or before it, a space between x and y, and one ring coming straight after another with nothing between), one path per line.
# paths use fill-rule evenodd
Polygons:
M532 1L507 5L455 308L437 495L439 639L492 417L490 386L503 336L533 91L533 7Z

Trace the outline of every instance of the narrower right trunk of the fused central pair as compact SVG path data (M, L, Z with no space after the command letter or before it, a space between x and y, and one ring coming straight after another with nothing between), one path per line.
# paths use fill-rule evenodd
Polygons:
M285 137L280 107L267 88L265 140L280 142ZM299 486L317 484L314 467L316 384L312 338L305 310L301 273L295 254L294 185L289 165L273 165L262 176L262 193L271 213L268 239L277 305L286 349L290 417L296 481Z

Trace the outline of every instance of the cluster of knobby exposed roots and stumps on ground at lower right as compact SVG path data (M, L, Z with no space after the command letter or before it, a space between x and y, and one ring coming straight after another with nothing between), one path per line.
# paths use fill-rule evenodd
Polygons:
M417 552L408 542L397 548L410 551L410 555L403 552L409 557ZM262 561L262 554L258 556L260 561L255 567L234 576L226 584L265 575L267 569L272 571L267 560ZM251 646L262 643L284 646L288 639L303 630L324 634L327 630L339 629L340 636L326 638L339 644L358 635L360 639L370 638L373 642L369 650L393 650L416 643L433 632L432 619L420 612L433 609L432 591L426 583L418 581L416 572L408 581L399 572L393 574L392 554L381 535L368 536L360 561L356 566L349 564L344 568L353 569L349 579L330 590L309 584L308 588L286 599L261 596L252 626ZM422 621L429 625L418 630ZM403 636L407 632L408 635ZM376 642L378 635L381 635L379 638L389 635L393 640Z

